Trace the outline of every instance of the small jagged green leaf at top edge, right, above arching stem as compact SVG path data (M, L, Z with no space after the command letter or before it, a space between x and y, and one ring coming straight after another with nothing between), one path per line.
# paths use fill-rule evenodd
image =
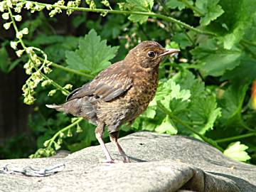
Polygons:
M224 11L218 2L220 0L196 0L196 7L202 12L203 16L200 18L202 26L207 26L210 21L215 20L221 16Z

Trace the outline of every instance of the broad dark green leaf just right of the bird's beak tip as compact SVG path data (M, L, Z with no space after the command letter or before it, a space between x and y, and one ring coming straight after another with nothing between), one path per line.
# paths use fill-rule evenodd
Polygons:
M242 52L239 49L226 50L216 44L214 40L201 43L191 50L193 58L202 66L203 75L220 76L226 70L233 70L240 64Z

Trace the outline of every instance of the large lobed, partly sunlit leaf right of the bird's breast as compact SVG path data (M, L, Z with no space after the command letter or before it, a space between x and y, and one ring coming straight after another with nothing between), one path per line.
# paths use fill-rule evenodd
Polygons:
M161 82L156 92L156 100L166 109L187 124L191 124L200 134L213 129L220 117L220 107L213 95L209 95L204 83L195 78L188 70L177 73L166 82ZM178 124L179 131L191 134L191 131Z

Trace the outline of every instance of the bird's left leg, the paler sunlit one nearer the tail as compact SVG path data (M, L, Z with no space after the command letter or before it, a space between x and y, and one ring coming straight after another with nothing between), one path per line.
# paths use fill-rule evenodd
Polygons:
M97 127L95 129L95 135L96 135L96 138L97 138L98 142L100 143L100 146L102 147L102 150L106 156L106 160L104 160L103 162L104 163L114 163L112 157L110 156L110 152L107 150L107 147L102 140L104 127L105 127L105 124L102 122L99 122L99 124L97 125Z

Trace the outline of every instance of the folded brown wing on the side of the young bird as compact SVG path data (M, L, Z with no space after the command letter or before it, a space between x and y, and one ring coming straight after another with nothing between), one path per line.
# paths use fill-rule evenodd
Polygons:
M103 70L92 82L71 92L67 100L95 95L107 102L122 95L130 87L132 87L132 78L123 68L122 62L118 62Z

